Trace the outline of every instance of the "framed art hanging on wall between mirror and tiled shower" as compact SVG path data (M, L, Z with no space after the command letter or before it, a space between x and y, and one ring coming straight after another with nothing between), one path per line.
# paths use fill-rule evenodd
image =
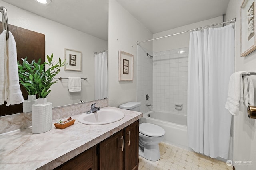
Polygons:
M133 55L124 51L119 51L118 61L118 81L132 81Z

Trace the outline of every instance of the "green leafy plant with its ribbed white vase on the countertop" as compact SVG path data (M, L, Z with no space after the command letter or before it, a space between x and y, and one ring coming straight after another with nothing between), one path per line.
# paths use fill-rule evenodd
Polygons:
M52 61L47 55L48 62L41 64L34 60L29 63L27 58L22 59L22 65L18 63L20 84L30 92L38 95L37 104L32 105L32 133L43 133L52 129L52 103L47 102L47 95L51 92L50 87L56 83L54 76L60 72L66 61L59 58L58 63Z

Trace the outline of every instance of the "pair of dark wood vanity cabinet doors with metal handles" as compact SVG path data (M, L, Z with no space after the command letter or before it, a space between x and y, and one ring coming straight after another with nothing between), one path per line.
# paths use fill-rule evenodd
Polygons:
M138 170L139 121L99 143L99 170Z

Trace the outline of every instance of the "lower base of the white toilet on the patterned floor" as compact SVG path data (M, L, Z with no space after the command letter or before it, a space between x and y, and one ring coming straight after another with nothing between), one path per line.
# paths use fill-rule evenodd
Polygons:
M139 155L147 160L157 161L160 159L159 145L139 146Z

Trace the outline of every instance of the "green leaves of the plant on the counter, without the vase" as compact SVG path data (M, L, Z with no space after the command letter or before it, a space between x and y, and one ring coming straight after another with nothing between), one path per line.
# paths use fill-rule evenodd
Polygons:
M46 98L51 92L50 87L57 82L54 80L54 76L60 72L62 66L66 65L66 61L62 62L60 58L57 64L54 64L52 59L53 54L51 57L47 55L48 63L40 64L41 59L37 63L35 60L29 63L27 57L22 59L22 64L18 62L20 84L24 86L29 95L38 94L39 98Z

